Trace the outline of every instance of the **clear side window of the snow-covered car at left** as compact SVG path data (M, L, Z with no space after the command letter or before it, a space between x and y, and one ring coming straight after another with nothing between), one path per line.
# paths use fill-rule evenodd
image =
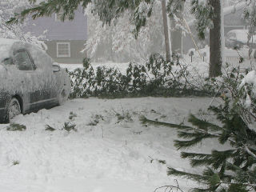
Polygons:
M19 70L35 70L30 54L26 50L18 50L14 53L14 61Z

